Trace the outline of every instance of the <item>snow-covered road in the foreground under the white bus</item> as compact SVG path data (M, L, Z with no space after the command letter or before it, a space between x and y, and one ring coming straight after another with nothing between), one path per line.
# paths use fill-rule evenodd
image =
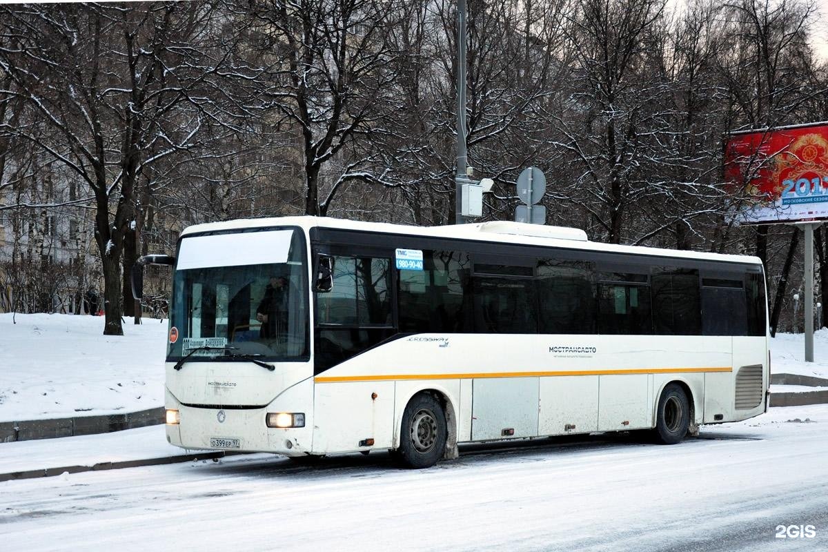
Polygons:
M810 423L792 420L810 418ZM666 447L548 439L436 468L266 455L0 483L2 550L828 550L828 406ZM2 449L0 449L2 454ZM777 526L815 526L776 538Z

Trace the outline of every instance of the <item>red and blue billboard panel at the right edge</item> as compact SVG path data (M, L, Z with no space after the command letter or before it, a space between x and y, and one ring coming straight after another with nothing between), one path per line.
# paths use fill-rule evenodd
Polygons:
M828 122L729 135L724 178L737 223L828 218Z

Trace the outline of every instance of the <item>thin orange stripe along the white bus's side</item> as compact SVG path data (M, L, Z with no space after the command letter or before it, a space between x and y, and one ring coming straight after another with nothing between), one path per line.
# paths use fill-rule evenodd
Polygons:
M317 376L316 383L384 382L388 380L464 380L484 377L613 376L623 374L667 374L687 372L733 372L732 367L626 368L622 370L559 370L556 372L477 372L466 374L388 374L383 376Z

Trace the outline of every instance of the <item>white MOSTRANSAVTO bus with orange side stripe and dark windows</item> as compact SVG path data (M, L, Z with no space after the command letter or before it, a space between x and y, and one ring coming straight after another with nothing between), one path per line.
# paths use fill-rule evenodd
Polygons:
M756 257L509 222L259 218L187 228L166 436L290 457L699 425L768 408ZM140 295L140 270L133 274Z

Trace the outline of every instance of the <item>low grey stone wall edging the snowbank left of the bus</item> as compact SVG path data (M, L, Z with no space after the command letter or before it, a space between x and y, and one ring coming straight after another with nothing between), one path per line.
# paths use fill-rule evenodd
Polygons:
M164 408L161 406L124 414L0 422L0 443L111 433L163 423Z

